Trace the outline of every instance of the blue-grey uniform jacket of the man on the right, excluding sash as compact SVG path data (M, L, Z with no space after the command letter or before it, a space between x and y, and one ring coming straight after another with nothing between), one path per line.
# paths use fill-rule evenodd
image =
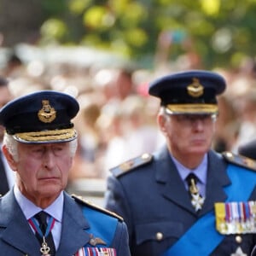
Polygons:
M224 186L230 184L227 166L228 162L222 155L209 152L206 201L199 213L192 207L189 193L166 147L154 154L148 163L110 176L106 207L124 218L129 231L131 255L160 256L199 218L212 211L215 202L224 202L227 199ZM241 178L242 175L241 170ZM256 200L255 188L250 200ZM256 236L240 236L239 239L236 235L225 236L211 255L230 255L236 252L237 247L250 255Z

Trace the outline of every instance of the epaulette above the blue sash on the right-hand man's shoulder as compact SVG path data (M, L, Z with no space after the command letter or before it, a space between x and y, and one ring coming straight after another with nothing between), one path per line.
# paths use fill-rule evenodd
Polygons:
M256 171L256 161L251 158L241 154L234 154L232 152L224 152L222 155L224 156L225 160L232 164Z

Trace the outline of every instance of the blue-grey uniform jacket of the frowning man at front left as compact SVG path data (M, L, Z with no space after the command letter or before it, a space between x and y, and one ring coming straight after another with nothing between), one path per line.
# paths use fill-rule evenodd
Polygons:
M90 233L86 232L90 229L90 222L84 217L83 208L82 202L75 201L64 192L61 241L55 256L72 256L81 247L89 244L90 233L93 234L93 230L90 230ZM99 210L92 210L96 211L96 215L99 216ZM102 214L106 213L102 212ZM109 218L113 217L109 216ZM101 221L101 218L95 219L98 224L101 224ZM127 227L124 222L118 220L113 241L109 247L115 248L119 256L130 255ZM6 256L42 255L38 240L15 201L13 190L0 199L0 254Z

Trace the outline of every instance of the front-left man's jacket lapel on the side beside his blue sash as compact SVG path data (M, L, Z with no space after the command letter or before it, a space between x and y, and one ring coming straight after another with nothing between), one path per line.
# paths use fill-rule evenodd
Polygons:
M55 256L73 255L90 241L89 224L79 205L66 193L62 218L61 242Z

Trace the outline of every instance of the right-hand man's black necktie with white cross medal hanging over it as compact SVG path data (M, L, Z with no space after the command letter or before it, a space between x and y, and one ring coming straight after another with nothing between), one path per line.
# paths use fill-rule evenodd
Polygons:
M199 210L201 210L201 207L205 201L205 199L200 195L200 191L196 186L196 183L198 182L198 177L196 177L194 173L189 173L188 177L186 177L186 181L189 185L191 204L195 208L195 212L198 212Z

